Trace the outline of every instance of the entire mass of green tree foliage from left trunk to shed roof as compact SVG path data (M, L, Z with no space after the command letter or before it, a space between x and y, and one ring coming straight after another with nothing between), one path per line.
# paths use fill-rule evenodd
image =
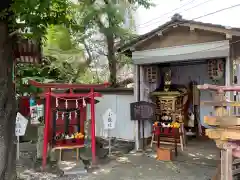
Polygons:
M38 81L88 83L102 81L88 69L98 55L114 54L118 67L131 63L131 59L115 52L116 41L124 42L134 36L134 28L125 28L126 9L133 20L137 6L149 8L151 0L15 0L12 10L15 18L30 27L38 40L45 38L43 53L45 65L18 67L22 82L32 78ZM132 22L132 25L134 23ZM106 41L95 40L102 34ZM113 52L109 52L109 37L113 37ZM105 51L107 51L105 53ZM111 72L112 71L112 72ZM116 73L110 69L110 74ZM22 86L19 86L22 87ZM21 88L19 88L21 89Z

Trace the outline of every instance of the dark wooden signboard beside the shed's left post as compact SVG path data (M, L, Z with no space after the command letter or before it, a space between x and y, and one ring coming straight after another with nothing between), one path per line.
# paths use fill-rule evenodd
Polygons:
M156 106L153 103L139 101L130 104L131 120L152 120L155 118Z

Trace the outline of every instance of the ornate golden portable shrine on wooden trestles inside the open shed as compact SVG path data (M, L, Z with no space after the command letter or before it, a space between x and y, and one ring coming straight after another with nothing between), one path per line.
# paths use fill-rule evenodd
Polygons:
M153 124L152 143L158 142L158 147L159 143L174 144L177 141L183 150L185 146L183 98L185 95L186 92L172 88L170 70L165 74L163 89L151 93L156 103L156 121ZM156 133L158 140L155 140Z

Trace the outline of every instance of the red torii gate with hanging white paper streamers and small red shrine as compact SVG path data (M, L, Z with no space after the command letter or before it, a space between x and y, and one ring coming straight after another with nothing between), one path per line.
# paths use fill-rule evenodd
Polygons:
M95 92L95 88L108 87L104 84L62 84L39 83L33 80L29 84L44 89L45 98L45 127L43 140L42 167L47 163L48 144L51 148L84 147L84 121L86 120L86 104L90 104L91 112L91 147L92 163L96 163L95 139L95 103L96 97L102 95ZM74 93L74 89L89 89L89 93ZM67 89L69 93L53 92L53 89Z

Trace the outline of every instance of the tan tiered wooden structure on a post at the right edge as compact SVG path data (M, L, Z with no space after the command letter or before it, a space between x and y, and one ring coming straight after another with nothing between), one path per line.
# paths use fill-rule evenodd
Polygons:
M216 92L213 101L201 102L204 106L212 106L214 113L204 117L204 123L212 126L206 129L206 135L216 142L221 149L221 165L212 180L235 180L240 178L239 159L233 155L240 151L240 118L232 116L234 108L240 103L227 100L226 92L240 91L240 86L199 85L201 90ZM237 166L235 166L237 165Z

